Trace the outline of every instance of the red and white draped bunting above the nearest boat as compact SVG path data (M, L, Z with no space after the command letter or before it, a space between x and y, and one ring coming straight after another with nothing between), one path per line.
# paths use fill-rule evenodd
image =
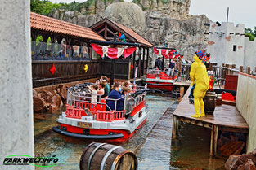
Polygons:
M101 58L107 56L110 59L119 59L124 54L124 59L128 58L135 50L136 47L124 48L110 48L108 46L99 46L97 44L91 44L92 49L101 55Z

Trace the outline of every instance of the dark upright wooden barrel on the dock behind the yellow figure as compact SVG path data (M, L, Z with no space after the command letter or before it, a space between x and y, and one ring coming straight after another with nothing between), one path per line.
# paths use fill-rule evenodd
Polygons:
M204 112L206 115L213 115L216 107L216 94L215 92L206 92L204 96Z

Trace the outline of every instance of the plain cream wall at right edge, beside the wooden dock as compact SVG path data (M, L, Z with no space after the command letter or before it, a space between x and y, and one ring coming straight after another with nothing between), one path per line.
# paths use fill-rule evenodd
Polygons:
M256 148L256 76L240 73L238 76L236 107L249 124L248 150Z

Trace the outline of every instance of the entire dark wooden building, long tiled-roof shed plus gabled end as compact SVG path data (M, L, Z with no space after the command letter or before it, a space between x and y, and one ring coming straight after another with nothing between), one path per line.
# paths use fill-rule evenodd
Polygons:
M135 54L115 62L115 78L133 78L135 67L131 71L131 65L139 68L139 75L146 73L146 61L152 45L121 24L103 19L91 28L85 28L31 12L30 28L34 87L85 80L101 75L110 76L110 59L101 59L92 50L89 41L111 41L115 32L122 32L128 42L141 45L137 62ZM38 41L38 36L41 37L41 42ZM86 65L88 70L84 69ZM52 68L55 68L53 73Z

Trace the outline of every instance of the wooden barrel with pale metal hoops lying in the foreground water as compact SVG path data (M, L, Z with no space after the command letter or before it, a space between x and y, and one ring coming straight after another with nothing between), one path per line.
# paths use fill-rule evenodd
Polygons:
M83 150L80 170L137 170L137 157L130 150L92 142Z

